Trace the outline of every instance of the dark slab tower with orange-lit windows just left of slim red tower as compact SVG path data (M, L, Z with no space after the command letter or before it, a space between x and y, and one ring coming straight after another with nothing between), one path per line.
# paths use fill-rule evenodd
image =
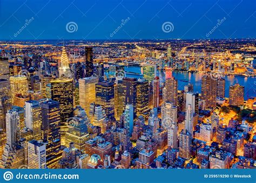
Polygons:
M148 116L149 112L149 81L138 79L137 82L137 116Z

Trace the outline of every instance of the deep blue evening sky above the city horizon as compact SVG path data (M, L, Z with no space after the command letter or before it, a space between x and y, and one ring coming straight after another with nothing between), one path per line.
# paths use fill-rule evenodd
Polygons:
M255 0L0 0L0 39L255 38L255 11Z

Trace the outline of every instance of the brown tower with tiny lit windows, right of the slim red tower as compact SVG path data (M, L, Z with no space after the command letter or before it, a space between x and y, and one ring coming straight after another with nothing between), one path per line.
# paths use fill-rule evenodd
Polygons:
M163 88L163 102L169 101L173 105L178 102L178 81L175 78L168 78Z

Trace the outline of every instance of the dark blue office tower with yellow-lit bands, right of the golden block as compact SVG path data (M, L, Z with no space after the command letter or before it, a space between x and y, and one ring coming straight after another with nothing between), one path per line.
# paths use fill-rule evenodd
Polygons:
M96 104L101 105L106 112L106 117L114 118L114 83L99 81L96 84Z

